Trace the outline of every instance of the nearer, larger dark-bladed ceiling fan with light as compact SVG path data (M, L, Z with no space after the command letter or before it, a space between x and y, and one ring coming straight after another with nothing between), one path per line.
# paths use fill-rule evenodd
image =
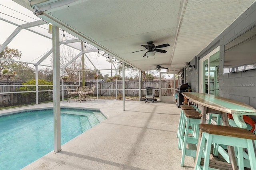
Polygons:
M162 47L168 47L170 46L170 44L166 43L166 44L162 44L162 45L157 45L155 46L155 44L153 44L153 42L147 42L147 45L141 45L143 47L145 47L146 49L142 49L142 50L139 50L139 51L145 51L145 50L148 50L144 55L143 57L147 56L147 57L151 57L151 56L154 56L156 52L160 52L160 53L166 53L167 51L166 50L163 50L163 49L157 49L157 48L162 48ZM154 52L156 51L156 52ZM132 53L136 53L138 51L134 51Z

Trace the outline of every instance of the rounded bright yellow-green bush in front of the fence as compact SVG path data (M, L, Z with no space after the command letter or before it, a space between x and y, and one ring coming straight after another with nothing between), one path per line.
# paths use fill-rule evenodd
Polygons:
M34 86L23 86L20 87L20 91L36 91L36 80L32 79L28 82L22 83L22 85L34 85ZM38 86L38 91L43 90L52 90L52 81L45 81L43 79L38 79L38 85L44 85L44 86ZM49 93L48 91L43 91L38 93L38 100L39 101L48 101L49 100ZM22 95L32 97L34 100L36 99L36 92L26 92L22 93Z

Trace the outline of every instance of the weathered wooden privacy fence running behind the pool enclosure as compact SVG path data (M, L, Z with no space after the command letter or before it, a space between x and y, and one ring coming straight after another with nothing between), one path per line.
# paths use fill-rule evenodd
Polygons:
M30 95L22 95L19 93L19 88L22 87L21 81L0 81L0 92L4 94L0 94L0 106L12 106L12 105L22 105L28 103L36 103L36 96L35 92L31 93ZM78 85L78 83L77 83ZM74 82L64 82L64 98L68 97L68 92L66 91L66 86L70 87L71 89L76 89ZM92 85L96 86L96 82L86 82L86 85L91 87ZM177 88L177 81L176 81L176 88ZM171 88L172 81L170 80L163 80L162 81L162 88ZM159 81L143 81L142 88L146 89L146 87L153 87L154 95L159 96ZM117 81L117 93L122 95L122 80ZM125 95L139 95L139 81L138 80L126 80L125 81ZM17 93L14 93L17 92ZM40 93L38 92L39 96ZM45 93L45 92L44 92ZM39 98L38 102L42 103L43 101L52 100L53 93L52 91L47 92L47 98ZM98 93L99 96L115 96L116 95L116 82L105 82L105 83L98 83ZM173 91L171 90L163 90L162 95L171 95ZM60 93L61 95L61 93ZM97 95L97 89L94 89L94 95ZM142 91L142 95L146 95L146 90Z

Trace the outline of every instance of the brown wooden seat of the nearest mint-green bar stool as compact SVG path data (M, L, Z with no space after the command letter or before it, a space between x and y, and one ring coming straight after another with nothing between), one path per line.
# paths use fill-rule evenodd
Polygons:
M199 128L203 132L206 132L209 134L218 134L222 136L232 136L236 138L256 140L256 135L244 128L228 127L228 126L222 126L222 125L209 125L209 124L200 124Z

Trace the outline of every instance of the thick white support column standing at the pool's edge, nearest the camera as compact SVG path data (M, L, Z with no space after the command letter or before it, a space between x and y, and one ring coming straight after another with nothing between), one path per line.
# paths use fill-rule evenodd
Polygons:
M60 148L60 36L59 28L52 26L52 56L53 56L53 135L54 152Z

